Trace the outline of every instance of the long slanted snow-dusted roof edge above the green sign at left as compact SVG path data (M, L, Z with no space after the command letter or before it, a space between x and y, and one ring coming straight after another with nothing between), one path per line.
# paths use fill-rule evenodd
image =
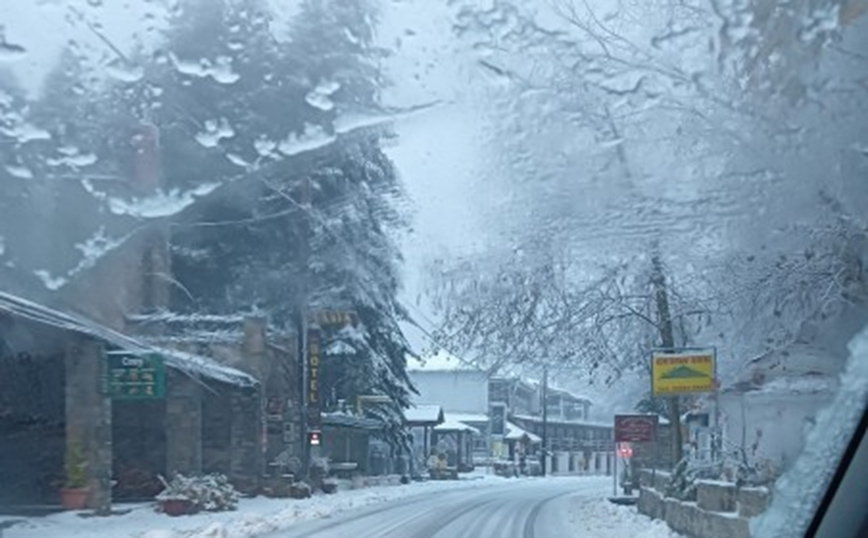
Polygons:
M167 366L191 375L207 377L239 386L253 386L258 383L250 375L218 364L209 358L148 345L83 316L67 314L2 291L0 291L0 312L6 312L36 323L91 336L126 351L159 353L164 357Z

